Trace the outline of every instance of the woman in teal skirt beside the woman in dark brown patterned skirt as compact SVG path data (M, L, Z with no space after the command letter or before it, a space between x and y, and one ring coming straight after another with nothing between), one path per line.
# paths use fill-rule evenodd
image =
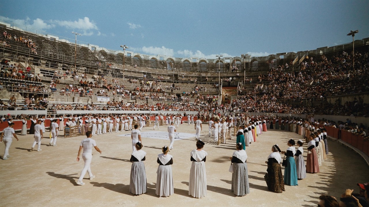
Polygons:
M295 145L295 141L293 139L288 140L287 151L282 151L282 153L286 156L287 166L284 167L284 184L290 186L297 185L297 170L296 163L293 159L293 155L296 154L296 149L293 145Z

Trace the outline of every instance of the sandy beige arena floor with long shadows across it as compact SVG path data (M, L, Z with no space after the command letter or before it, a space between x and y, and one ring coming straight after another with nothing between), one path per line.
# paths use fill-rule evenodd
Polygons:
M208 136L207 124L203 124L201 139L206 143L207 196L196 199L188 195L190 151L196 148L195 138L176 140L173 155L172 196L159 198L155 194L157 155L168 140L142 138L143 150L147 152L145 168L148 191L134 196L129 193L132 147L130 137L117 136L125 132L94 136L102 154L93 152L91 169L96 178L88 179L84 186L76 181L83 168L83 160L76 161L80 141L85 136L58 138L57 146L48 146L49 139L42 140L42 151L30 151L33 136L13 139L11 157L0 160L0 206L316 206L320 194L339 197L345 189L355 189L358 182L369 181L366 162L349 148L329 140L329 155L320 173L307 174L299 180L299 186L286 186L281 194L269 192L264 180L266 158L272 145L278 143L287 149L287 140L300 136L280 130L268 130L257 137L257 142L246 147L250 194L237 197L231 192L229 157L235 150L235 137L227 144L216 145ZM166 131L162 126L161 131ZM142 131L152 131L144 127ZM155 130L156 131L156 130ZM177 132L195 133L194 125L182 124ZM128 132L130 133L130 132ZM48 130L46 131L48 137ZM306 144L304 145L306 158ZM4 144L0 144L1 157ZM282 156L283 157L283 156ZM284 169L282 169L282 172Z

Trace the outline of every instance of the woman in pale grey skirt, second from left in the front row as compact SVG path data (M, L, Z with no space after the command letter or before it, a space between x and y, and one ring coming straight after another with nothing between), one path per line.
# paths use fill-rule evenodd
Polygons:
M170 196L174 193L173 188L173 173L172 165L173 157L168 154L169 148L164 146L162 148L163 153L158 155L156 162L159 163L158 171L156 173L156 195L158 196Z

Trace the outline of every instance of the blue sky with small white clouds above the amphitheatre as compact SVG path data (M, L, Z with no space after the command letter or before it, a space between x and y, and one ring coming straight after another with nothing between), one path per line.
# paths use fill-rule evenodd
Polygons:
M0 19L100 47L212 58L297 52L369 37L368 0L2 1Z

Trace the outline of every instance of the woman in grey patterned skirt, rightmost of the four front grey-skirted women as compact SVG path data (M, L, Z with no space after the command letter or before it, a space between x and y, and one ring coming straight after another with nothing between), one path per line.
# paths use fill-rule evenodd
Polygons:
M244 196L250 193L249 175L247 170L247 154L242 150L241 143L236 144L236 151L230 157L233 167L231 190L236 196Z

